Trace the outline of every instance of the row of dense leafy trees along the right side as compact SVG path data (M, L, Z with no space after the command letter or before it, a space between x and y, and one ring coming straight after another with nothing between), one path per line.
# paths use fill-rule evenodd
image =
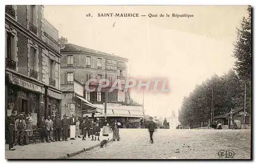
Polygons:
M243 17L234 42L235 68L223 76L212 76L183 99L179 110L179 122L183 126L195 128L207 122L211 119L212 106L214 116L243 107L245 87L246 108L251 111L251 6L247 11L248 17Z

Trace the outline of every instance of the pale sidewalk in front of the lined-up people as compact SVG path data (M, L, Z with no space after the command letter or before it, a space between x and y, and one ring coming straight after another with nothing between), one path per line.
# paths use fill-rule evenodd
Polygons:
M108 138L111 142L113 134L109 136L102 136L102 129L100 131L100 140ZM76 138L75 140L51 142L51 143L38 143L29 144L25 146L14 146L15 151L9 150L9 145L5 145L5 158L6 159L57 159L72 157L81 152L91 150L99 146L101 141L91 140L92 138ZM68 155L69 154L69 155Z

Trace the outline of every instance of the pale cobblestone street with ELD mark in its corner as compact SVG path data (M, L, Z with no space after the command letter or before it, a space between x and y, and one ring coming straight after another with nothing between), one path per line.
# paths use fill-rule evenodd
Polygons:
M157 129L154 144L147 129L120 129L121 140L72 159L229 159L220 150L234 152L234 159L250 159L251 130Z

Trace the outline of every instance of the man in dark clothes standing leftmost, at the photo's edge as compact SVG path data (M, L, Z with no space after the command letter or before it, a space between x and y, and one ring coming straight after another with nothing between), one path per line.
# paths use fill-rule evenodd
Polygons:
M9 150L14 151L13 148L13 134L15 130L15 110L12 110L12 115L7 117L8 125L8 140L9 140Z

